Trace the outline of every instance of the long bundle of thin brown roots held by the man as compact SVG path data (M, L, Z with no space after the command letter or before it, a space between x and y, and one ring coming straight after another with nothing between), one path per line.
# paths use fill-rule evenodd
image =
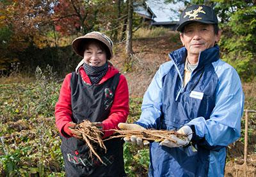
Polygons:
M141 138L142 140L147 141L156 141L160 142L164 139L168 139L173 143L177 143L175 139L172 139L173 134L180 139L186 139L187 136L184 134L179 134L175 131L166 131L166 130L155 130L155 129L143 129L143 130L115 130L117 135L112 136L111 138L125 138L136 136L136 138Z

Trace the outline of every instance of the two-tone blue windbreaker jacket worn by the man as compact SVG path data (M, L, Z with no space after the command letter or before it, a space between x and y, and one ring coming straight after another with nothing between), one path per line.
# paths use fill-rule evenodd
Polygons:
M200 53L184 87L186 55L186 48L180 48L160 66L145 92L136 124L175 131L189 125L197 151L192 146L150 143L148 176L223 176L226 147L240 137L244 94L236 70L220 60L215 45Z

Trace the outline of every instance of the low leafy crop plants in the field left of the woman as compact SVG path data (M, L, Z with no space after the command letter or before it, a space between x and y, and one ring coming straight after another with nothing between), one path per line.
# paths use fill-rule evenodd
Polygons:
M35 82L0 85L0 171L7 176L64 174L53 117L60 83L50 66L37 73Z

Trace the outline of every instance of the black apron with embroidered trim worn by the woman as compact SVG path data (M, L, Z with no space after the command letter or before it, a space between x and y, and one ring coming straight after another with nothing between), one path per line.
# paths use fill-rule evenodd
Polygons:
M115 74L102 84L85 83L80 74L72 73L70 80L72 121L79 124L87 119L102 122L108 118L115 97L120 74ZM61 152L67 176L126 176L124 171L123 144L120 138L104 141L107 152L93 145L104 164L95 155L91 158L90 148L77 138L61 136Z

